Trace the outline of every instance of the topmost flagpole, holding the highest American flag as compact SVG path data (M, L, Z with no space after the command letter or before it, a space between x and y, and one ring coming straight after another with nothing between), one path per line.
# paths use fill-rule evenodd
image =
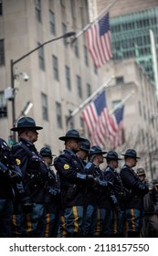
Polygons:
M103 11L100 13L99 16L96 16L93 21L91 21L86 27L83 27L76 35L75 37L71 40L71 45L77 40L78 37L80 37L90 26L95 24L101 16L104 15L105 12L108 12L111 9L111 6L114 5L118 0L114 0L110 5L108 5Z

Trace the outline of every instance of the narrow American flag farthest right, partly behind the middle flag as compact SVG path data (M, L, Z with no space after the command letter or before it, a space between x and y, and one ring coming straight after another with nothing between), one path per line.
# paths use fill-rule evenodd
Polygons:
M114 136L114 144L113 147L116 148L124 142L124 131L123 131L123 113L124 113L124 105L116 109L113 113L113 119L116 127L116 133Z

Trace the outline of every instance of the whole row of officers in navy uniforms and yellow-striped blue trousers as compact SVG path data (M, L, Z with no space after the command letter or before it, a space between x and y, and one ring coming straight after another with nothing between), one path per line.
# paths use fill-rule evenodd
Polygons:
M116 152L90 146L71 129L59 137L65 149L53 170L55 155L35 147L41 129L23 117L11 129L18 143L10 149L0 139L0 237L140 237L149 186L132 169L136 151L125 152L119 173Z

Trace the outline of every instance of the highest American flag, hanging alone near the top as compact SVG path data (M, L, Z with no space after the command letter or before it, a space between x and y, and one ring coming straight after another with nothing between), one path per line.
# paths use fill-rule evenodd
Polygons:
M100 18L86 31L88 48L97 68L112 58L109 14Z

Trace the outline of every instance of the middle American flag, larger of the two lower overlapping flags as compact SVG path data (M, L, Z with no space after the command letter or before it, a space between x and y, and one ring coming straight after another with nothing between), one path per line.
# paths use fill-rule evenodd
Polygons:
M100 92L83 110L82 118L92 145L97 144L104 148L108 139L113 140L116 133L115 123L107 108L105 91Z

